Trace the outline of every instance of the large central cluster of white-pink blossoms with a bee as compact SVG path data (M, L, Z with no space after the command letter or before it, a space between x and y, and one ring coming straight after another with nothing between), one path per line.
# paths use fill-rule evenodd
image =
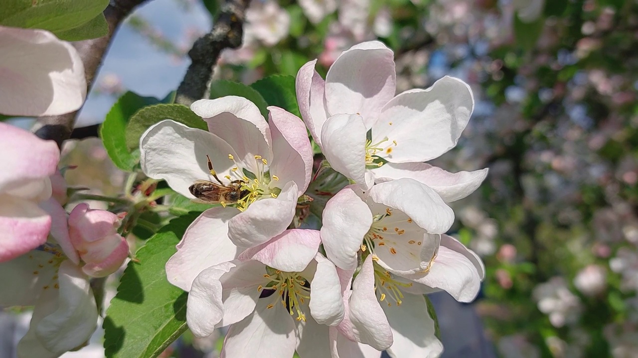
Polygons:
M393 56L378 41L361 43L325 80L308 62L296 82L303 122L274 106L266 120L228 96L191 106L209 131L164 120L142 135L146 175L220 204L188 227L166 271L189 292L196 336L230 326L222 357L436 357L443 347L423 295L477 295L482 262L445 233L448 203L477 189L487 170L424 163L456 145L471 90L445 77L395 96ZM291 224L330 170L323 164L313 176L307 129L350 182L323 193L330 199L313 228Z

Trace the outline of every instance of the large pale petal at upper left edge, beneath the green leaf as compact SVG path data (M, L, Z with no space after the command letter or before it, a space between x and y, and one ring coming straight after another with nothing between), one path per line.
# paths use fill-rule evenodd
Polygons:
M86 97L84 64L77 50L54 34L0 26L0 113L61 115Z

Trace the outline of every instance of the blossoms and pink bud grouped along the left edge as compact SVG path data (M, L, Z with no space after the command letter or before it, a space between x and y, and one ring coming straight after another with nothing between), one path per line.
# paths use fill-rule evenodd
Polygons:
M82 61L51 32L0 26L0 113L59 115L84 103ZM23 357L56 358L85 345L98 304L91 278L128 257L119 217L85 203L66 213L66 182L54 141L0 122L0 307L35 306L17 346Z

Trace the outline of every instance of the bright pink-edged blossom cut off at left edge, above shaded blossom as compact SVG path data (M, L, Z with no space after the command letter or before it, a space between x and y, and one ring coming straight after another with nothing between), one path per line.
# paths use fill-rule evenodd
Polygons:
M59 159L54 141L0 123L0 262L47 241L51 217L40 204L54 201L49 176Z

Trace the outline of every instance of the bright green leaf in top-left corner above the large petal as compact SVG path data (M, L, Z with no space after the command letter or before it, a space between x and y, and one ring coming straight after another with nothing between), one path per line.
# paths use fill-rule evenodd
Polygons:
M3 0L0 25L64 33L91 22L108 0Z

